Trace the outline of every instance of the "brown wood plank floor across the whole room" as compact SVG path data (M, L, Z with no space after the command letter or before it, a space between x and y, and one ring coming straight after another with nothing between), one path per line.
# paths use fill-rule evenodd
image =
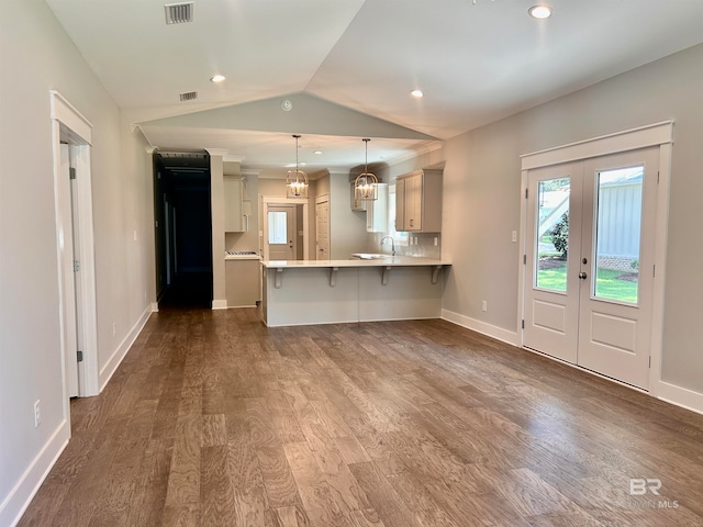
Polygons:
M703 525L703 416L444 321L160 312L71 417L21 526Z

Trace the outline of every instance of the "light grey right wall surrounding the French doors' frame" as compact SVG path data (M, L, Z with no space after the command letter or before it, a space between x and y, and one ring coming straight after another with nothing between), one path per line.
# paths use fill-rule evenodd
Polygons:
M662 380L682 389L674 395L692 391L703 411L701 93L703 45L447 141L443 253L454 265L444 309L515 335L521 154L672 119Z

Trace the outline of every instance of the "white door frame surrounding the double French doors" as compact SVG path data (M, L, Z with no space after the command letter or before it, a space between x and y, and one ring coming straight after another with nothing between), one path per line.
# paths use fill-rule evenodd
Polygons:
M545 150L538 150L532 154L521 156L521 199L520 205L520 262L518 262L518 304L517 313L520 314L516 324L516 334L518 335L520 346L524 348L524 318L525 318L525 288L527 287L527 277L525 276L525 259L527 232L527 188L528 171L537 168L544 168L553 165L561 165L570 161L580 161L590 158L624 154L640 148L658 147L659 148L659 178L657 186L657 205L656 205L656 226L655 226L655 257L654 269L655 276L651 305L651 365L649 368L649 385L648 393L657 396L659 381L661 380L661 350L663 334L663 315L665 315L665 279L666 279L666 256L667 256L667 231L669 218L669 193L671 181L671 150L673 146L673 121L663 121L637 128L631 128L614 134L593 137L590 139L570 143ZM526 348L525 348L526 349ZM559 359L555 359L559 360ZM563 363L580 368L570 362ZM598 374L591 372L593 374ZM599 377L604 377L600 375ZM618 382L614 379L614 382ZM618 382L628 388L634 386ZM636 389L635 389L636 390Z

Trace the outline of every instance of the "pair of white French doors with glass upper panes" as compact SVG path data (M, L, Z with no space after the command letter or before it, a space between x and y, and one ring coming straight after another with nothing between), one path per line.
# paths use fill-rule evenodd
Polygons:
M659 149L529 170L523 343L647 389Z

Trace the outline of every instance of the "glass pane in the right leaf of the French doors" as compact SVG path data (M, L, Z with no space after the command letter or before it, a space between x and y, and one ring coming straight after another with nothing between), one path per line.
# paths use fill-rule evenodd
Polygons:
M643 166L598 173L594 296L637 303Z

